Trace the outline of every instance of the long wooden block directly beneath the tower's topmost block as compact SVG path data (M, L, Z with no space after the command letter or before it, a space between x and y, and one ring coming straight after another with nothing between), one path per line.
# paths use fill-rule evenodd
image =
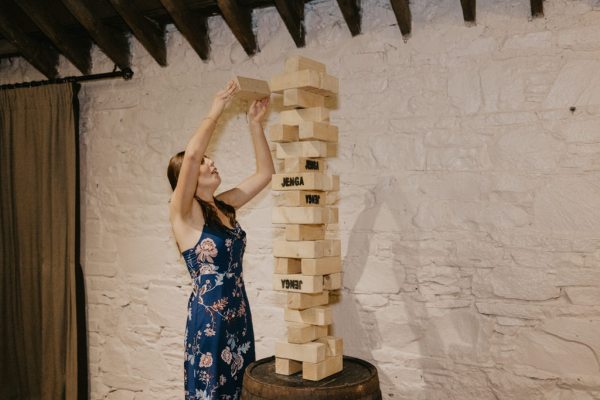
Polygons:
M274 76L269 86L274 93L281 93L286 89L304 89L329 97L338 92L339 81L324 72L303 69Z

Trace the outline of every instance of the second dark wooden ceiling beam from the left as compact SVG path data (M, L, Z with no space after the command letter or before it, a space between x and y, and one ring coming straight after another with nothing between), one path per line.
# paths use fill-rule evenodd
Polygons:
M56 5L45 0L18 0L16 4L78 70L83 74L90 73L92 42L87 35L70 35L56 23L59 20Z

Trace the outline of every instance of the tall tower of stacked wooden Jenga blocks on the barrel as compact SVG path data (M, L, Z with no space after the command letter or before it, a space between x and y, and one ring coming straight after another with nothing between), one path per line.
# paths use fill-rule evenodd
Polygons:
M273 243L275 290L287 292L287 340L275 347L275 372L318 381L343 369L342 338L329 336L329 292L342 287L340 241L326 239L338 222L339 177L328 175L326 157L337 152L338 128L329 123L326 97L338 93L337 78L325 65L293 56L285 73L271 80L283 94L281 123L270 127L283 172L273 175L280 191L273 223L285 225L285 239ZM280 162L281 164L281 162Z

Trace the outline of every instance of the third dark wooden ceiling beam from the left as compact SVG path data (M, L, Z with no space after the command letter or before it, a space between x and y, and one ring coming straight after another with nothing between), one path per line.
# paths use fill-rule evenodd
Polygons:
M129 41L124 32L97 18L95 0L61 0L71 14L87 30L98 47L121 69L130 67Z

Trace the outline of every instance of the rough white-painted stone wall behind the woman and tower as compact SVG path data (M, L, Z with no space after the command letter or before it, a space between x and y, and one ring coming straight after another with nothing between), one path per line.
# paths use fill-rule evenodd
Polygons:
M467 27L458 1L414 1L406 43L389 3L368 3L355 38L333 0L308 5L300 50L275 9L256 11L252 58L218 17L207 63L171 28L170 66L133 40L132 81L84 85L92 399L182 398L190 281L167 161L227 79L268 79L295 53L340 78L335 327L346 354L378 367L384 398L600 399L600 3L547 0L530 21L526 0L480 0ZM94 70L111 69L95 52ZM0 73L42 78L18 59ZM210 149L223 188L253 166L249 149L234 106ZM271 207L265 191L240 213L259 357L284 334Z

